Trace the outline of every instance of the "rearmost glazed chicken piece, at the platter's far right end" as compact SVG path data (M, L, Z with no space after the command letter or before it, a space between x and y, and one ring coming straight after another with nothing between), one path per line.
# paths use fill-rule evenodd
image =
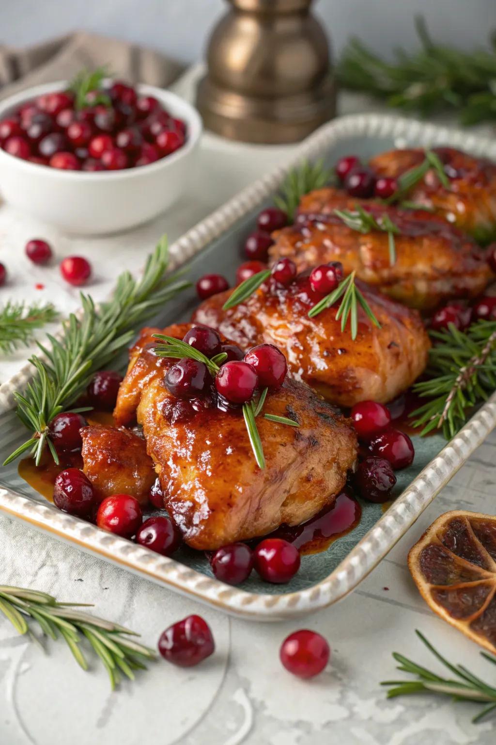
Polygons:
M449 188L428 171L409 193L408 199L433 207L439 215L470 232L477 241L488 243L496 237L496 165L454 148L433 148L445 165ZM379 176L395 178L425 159L420 148L390 150L370 161Z

